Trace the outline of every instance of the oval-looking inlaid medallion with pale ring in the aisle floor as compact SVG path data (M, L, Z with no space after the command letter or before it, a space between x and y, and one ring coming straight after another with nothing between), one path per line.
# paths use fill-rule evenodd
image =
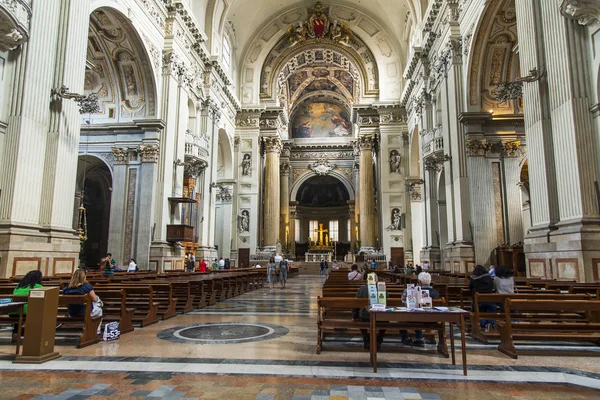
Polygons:
M245 322L218 322L175 326L158 333L159 339L179 343L234 344L276 339L288 333L279 325Z

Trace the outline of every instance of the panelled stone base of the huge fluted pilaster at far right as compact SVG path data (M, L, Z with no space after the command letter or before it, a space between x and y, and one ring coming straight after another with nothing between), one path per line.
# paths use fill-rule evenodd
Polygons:
M600 227L563 225L525 238L527 276L596 282L600 280Z

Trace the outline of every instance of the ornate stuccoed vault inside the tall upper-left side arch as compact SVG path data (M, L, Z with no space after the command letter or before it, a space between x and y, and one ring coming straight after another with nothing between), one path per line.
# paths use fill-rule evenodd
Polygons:
M109 6L102 6L109 3ZM96 2L90 14L86 94L98 96L93 122L122 122L156 116L156 77L143 40L121 7Z

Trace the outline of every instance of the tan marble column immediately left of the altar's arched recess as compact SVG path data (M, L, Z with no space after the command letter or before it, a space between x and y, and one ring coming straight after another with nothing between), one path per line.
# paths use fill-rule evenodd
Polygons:
M264 197L264 238L265 248L275 249L279 238L280 218L280 168L279 154L281 153L281 139L279 136L263 137L265 151L265 197Z

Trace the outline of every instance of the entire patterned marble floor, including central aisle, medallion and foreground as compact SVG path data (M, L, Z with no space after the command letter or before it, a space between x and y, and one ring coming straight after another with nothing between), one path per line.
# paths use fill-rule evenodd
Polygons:
M373 373L359 338L336 338L317 355L322 278L247 293L136 329L61 358L13 364L0 332L0 399L600 399L600 349L519 345L519 359L468 341L468 376L435 346L386 339ZM457 354L460 360L460 353Z

